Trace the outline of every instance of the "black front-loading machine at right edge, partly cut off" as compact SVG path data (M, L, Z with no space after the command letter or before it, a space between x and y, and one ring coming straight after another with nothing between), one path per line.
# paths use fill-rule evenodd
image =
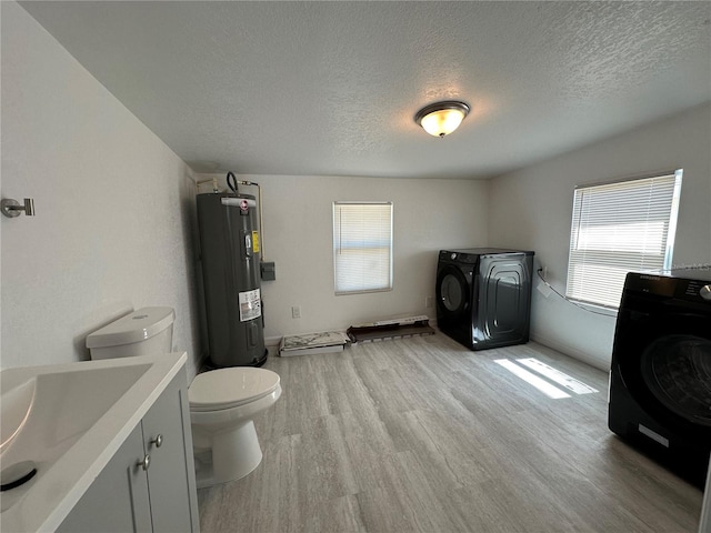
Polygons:
M627 275L609 426L703 487L711 452L711 266Z

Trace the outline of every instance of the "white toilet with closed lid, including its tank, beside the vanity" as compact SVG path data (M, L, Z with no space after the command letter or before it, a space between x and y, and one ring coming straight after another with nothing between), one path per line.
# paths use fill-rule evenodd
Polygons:
M172 308L143 308L87 336L91 359L172 351ZM196 477L202 489L239 480L262 460L253 419L281 395L279 374L234 366L198 374L188 389Z

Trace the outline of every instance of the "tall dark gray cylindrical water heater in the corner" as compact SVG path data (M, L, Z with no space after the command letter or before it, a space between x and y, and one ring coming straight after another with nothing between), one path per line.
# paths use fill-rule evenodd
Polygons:
M197 201L209 361L260 366L267 349L254 197L206 193Z

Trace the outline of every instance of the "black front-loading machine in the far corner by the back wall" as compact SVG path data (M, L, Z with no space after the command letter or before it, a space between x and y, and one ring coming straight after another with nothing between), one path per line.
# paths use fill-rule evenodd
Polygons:
M437 325L471 350L529 340L533 252L440 250Z

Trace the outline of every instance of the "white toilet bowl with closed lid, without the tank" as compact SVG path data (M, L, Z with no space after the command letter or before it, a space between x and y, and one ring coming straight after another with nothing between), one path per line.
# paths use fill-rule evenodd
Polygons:
M262 460L253 419L281 395L279 374L229 368L198 374L188 389L198 489L239 480Z

